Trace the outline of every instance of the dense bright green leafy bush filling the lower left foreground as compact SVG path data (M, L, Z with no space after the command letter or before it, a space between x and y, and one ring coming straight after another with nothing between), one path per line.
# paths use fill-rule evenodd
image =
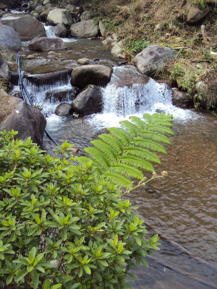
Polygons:
M0 287L130 288L132 259L148 267L146 254L159 249L137 207L98 178L92 160L73 166L73 156L44 154L16 133L0 136Z

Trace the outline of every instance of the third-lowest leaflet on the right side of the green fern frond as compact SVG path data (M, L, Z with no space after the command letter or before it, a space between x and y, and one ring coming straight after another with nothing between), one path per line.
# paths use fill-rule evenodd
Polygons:
M154 167L151 162L141 160L140 157L135 155L127 155L126 153L123 153L123 155L120 157L120 160L124 164L129 164L130 166L134 166L145 171L154 171Z

